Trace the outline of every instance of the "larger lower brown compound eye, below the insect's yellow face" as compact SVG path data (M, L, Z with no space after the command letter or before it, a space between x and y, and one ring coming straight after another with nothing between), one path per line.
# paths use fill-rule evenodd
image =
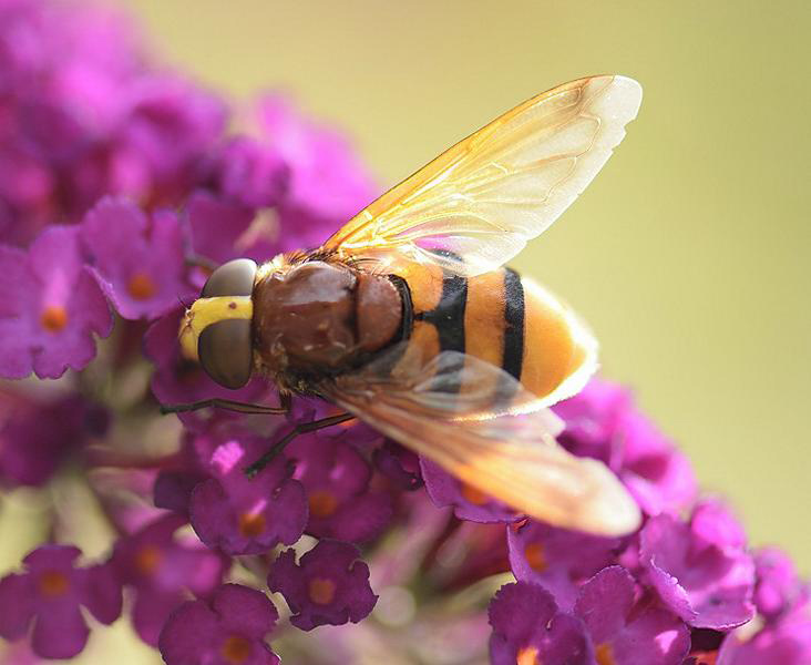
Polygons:
M225 319L206 326L197 341L197 355L206 374L225 388L236 390L250 379L254 351L250 321Z

